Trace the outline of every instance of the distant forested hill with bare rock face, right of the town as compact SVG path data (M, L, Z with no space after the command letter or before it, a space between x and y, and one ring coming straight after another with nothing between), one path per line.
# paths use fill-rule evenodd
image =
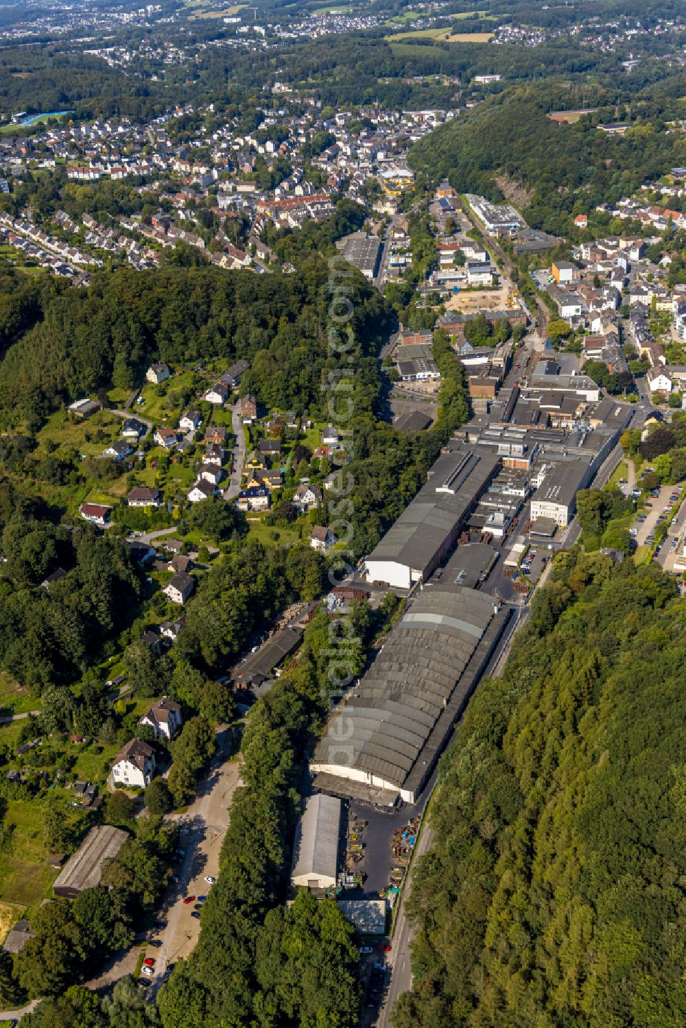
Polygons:
M595 124L628 114L601 108L575 124L547 117L570 109L575 99L554 81L519 85L448 121L410 150L409 163L429 178L447 175L461 192L503 193L496 178L505 175L529 192L523 214L531 225L553 232L571 227L571 216L597 204L616 203L644 179L656 179L686 161L686 137L665 132L664 120L686 105L686 76L675 76L639 93L630 105L633 127L607 136ZM501 180L502 181L502 180Z

